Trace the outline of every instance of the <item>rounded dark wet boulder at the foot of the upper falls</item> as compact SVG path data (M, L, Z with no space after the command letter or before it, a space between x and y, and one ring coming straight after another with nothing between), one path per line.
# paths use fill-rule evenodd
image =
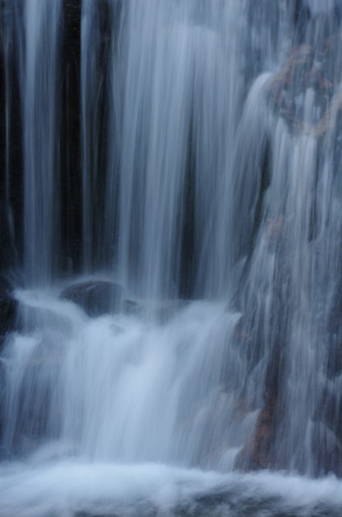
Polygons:
M101 316L119 308L122 287L114 282L90 281L70 285L60 298L82 307L88 316Z

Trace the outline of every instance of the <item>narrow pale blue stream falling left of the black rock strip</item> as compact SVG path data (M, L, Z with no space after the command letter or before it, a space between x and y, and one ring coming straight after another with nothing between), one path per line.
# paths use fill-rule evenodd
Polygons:
M58 243L58 121L61 1L26 0L21 78L24 129L24 273L46 284Z

